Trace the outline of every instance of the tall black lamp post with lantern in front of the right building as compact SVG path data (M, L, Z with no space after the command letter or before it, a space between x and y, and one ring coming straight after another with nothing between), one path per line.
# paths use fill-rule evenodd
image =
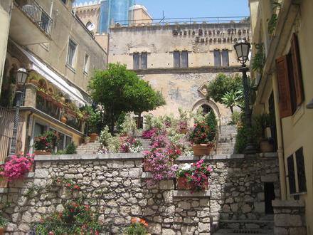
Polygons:
M251 108L250 108L250 88L248 85L247 72L249 68L245 66L245 63L249 60L250 53L250 43L244 39L238 40L234 45L235 51L237 53L238 61L242 64L240 71L243 73L243 95L245 97L245 125L248 127L248 131L251 131ZM245 147L246 154L255 153L255 146L253 145L252 136L248 135L248 144Z

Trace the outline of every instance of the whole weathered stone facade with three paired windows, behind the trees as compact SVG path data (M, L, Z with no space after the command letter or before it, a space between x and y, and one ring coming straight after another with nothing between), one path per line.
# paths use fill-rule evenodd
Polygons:
M218 73L238 72L233 49L238 38L250 40L249 23L115 26L110 33L109 63L126 64L164 95L166 105L152 111L154 115L208 105L220 124L227 125L230 112L205 99L206 85Z

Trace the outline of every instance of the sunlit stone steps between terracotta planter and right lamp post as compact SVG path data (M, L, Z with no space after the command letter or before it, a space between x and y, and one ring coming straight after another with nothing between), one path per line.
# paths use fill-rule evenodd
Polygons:
M232 155L235 150L236 135L236 125L222 125L218 135L216 155Z

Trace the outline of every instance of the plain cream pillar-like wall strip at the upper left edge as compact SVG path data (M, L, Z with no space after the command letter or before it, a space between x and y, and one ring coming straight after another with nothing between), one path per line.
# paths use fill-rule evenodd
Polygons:
M4 75L4 63L6 62L6 47L8 46L12 4L13 0L0 1L0 94Z

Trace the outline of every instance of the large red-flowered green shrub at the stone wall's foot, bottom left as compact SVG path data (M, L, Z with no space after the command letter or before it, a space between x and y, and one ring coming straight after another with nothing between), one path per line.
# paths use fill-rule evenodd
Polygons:
M101 226L96 212L82 199L68 202L63 212L55 212L38 224L36 234L70 235L70 234L100 234Z

